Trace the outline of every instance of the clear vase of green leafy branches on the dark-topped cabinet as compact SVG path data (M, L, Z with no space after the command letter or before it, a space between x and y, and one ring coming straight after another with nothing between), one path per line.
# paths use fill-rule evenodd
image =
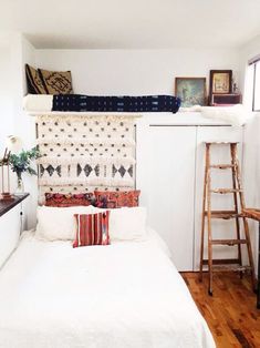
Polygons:
M15 195L23 194L23 181L22 173L28 173L30 175L37 175L37 171L31 166L32 161L40 157L40 152L37 147L29 151L22 150L19 154L10 154L10 165L12 172L17 174L18 186L15 190Z

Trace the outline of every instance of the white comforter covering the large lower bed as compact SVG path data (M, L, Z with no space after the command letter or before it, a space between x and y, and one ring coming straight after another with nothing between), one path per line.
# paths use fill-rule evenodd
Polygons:
M0 272L0 347L215 347L157 239L73 249L24 234Z

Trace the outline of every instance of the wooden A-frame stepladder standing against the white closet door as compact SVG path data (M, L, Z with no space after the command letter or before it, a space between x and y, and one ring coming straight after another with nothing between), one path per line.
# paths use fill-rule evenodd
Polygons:
M230 164L211 164L210 163L210 147L211 145L230 145ZM237 156L237 144L230 142L210 142L206 143L206 165L205 165L205 180L204 180L204 198L202 198L202 225L201 225L201 245L200 245L200 269L199 278L202 280L204 265L208 266L209 273L209 287L208 293L212 295L212 276L214 272L229 272L237 270L242 276L242 273L249 270L251 274L252 288L256 289L254 266L252 257L252 248L250 243L248 222L245 215L241 213L245 208L245 197L241 186L240 168ZM232 173L232 188L212 188L211 187L211 171L212 170L231 170ZM233 196L233 209L232 211L211 211L211 195L212 194L232 194ZM240 207L238 206L240 203ZM207 232L208 232L208 259L204 259L204 242L205 242L205 225L207 218ZM214 239L211 221L214 218L230 219L233 218L236 223L236 238L232 239ZM245 238L241 238L240 222L242 218ZM247 246L249 266L242 266L241 245ZM212 247L215 245L228 245L237 246L238 257L228 259L212 259Z

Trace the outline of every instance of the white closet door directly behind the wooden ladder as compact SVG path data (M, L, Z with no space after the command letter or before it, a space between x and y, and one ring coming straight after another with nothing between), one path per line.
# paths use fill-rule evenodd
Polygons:
M202 211L202 185L205 170L205 142L240 142L238 145L240 165L242 163L242 127L232 126L198 126L197 131L197 156L196 156L196 195L195 195L195 270L199 269L200 253L200 232L201 232L201 211ZM211 146L211 163L230 163L230 147L228 145ZM211 186L232 187L231 170L212 170ZM233 197L227 195L211 195L212 209L233 209ZM241 228L242 229L242 228ZM207 229L206 229L207 231ZM212 236L215 238L233 238L236 235L235 221L214 219ZM207 236L207 234L206 234ZM207 239L207 238L206 238ZM205 239L205 240L206 240ZM207 258L207 240L205 243L205 258ZM214 258L236 258L237 247L216 246L214 247Z

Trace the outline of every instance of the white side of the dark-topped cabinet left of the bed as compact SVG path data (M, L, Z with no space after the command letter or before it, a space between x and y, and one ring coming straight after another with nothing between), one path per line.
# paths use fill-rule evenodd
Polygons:
M18 245L21 233L21 204L0 217L0 267Z

